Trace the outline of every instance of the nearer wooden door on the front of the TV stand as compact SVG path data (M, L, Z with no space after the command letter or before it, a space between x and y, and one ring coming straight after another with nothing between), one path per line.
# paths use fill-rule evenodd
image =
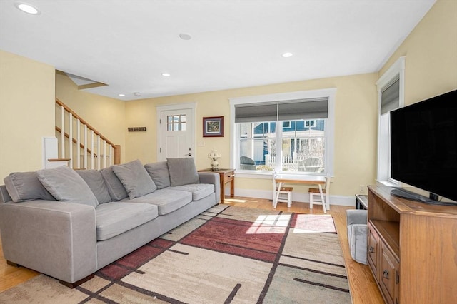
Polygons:
M384 243L381 243L381 290L387 303L398 303L399 263Z

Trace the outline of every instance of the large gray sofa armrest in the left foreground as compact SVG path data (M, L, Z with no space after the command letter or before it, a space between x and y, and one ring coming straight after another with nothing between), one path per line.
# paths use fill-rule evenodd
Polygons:
M92 206L58 201L0 204L4 258L67 283L97 270Z

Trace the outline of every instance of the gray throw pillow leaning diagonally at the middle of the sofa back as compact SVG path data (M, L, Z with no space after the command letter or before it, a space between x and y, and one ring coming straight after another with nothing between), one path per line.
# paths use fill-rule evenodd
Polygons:
M121 181L127 193L129 193L130 199L156 191L157 187L154 181L152 181L148 171L146 171L146 168L144 168L138 159L112 167L119 181Z

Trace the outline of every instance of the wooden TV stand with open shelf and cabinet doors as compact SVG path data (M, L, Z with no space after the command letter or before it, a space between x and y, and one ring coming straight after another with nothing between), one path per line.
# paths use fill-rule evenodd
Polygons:
M368 186L368 265L386 303L456 303L457 206Z

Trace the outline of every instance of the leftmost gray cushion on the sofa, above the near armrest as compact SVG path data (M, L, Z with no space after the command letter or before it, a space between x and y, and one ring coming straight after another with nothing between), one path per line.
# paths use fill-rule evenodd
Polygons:
M31 200L56 201L41 185L36 172L14 172L4 178L6 190L11 199L18 203Z

